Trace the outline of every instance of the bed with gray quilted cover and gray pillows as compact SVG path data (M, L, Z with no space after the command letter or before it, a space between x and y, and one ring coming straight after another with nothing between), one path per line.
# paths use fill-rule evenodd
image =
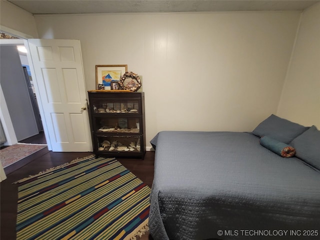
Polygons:
M264 136L295 155L261 145ZM318 239L320 131L314 125L272 114L252 132L161 131L150 142L154 240Z

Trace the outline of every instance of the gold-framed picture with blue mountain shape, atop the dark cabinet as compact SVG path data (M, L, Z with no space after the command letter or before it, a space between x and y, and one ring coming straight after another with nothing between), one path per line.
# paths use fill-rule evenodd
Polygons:
M104 86L105 90L111 90L111 81L118 82L125 72L127 72L127 64L95 65L95 89L101 89L101 86Z

